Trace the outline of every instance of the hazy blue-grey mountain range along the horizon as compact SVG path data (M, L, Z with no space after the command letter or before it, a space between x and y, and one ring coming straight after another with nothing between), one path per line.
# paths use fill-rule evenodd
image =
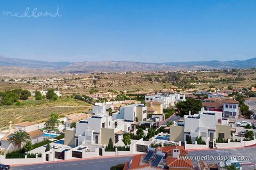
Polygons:
M127 72L127 71L180 71L180 70L211 70L251 68L256 66L256 57L249 60L234 61L192 61L192 62L166 62L142 63L127 61L100 61L100 62L43 62L18 58L6 58L0 55L0 72L7 72L7 68L22 67L23 73L36 74L52 73L89 73L89 72ZM4 68L4 69L3 69ZM14 69L15 70L15 69ZM20 69L18 69L20 70Z

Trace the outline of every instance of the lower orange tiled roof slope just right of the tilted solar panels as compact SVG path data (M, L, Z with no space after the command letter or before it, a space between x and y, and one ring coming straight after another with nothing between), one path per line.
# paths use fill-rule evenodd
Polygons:
M179 168L193 168L192 160L179 160L178 158L166 158L166 164L169 167L179 167Z

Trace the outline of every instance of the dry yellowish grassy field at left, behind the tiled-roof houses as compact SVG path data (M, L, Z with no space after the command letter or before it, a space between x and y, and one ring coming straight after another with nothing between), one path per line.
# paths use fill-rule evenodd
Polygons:
M87 112L91 107L84 101L72 98L59 98L58 100L27 100L23 106L0 106L0 127L7 126L9 121L19 123L22 121L43 122L51 113L68 115L72 113Z

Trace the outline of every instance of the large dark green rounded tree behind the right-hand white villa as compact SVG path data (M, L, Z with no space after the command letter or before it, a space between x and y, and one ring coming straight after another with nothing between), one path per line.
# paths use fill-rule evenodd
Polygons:
M198 113L198 111L201 110L202 101L187 98L186 101L181 101L177 103L176 107L179 111L179 115L183 117L184 115L187 115L189 111L191 111L191 113Z

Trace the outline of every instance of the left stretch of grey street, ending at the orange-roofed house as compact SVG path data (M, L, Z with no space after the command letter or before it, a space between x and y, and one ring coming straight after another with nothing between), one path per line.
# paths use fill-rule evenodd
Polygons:
M110 169L111 166L124 164L131 157L115 157L103 159L78 160L73 162L59 162L50 164L38 164L12 167L12 170L47 169L47 170L69 170L69 169Z

